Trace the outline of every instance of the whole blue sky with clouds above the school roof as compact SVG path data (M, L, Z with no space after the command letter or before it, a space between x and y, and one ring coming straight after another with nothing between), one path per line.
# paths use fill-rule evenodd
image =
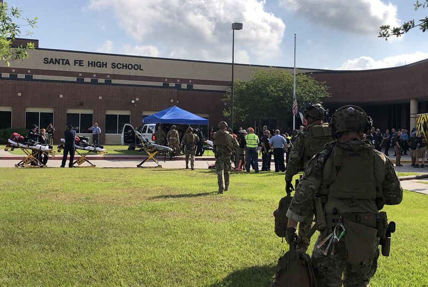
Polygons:
M413 0L16 0L39 18L41 48L208 61L367 69L428 58L428 32L377 38L379 26L421 19Z

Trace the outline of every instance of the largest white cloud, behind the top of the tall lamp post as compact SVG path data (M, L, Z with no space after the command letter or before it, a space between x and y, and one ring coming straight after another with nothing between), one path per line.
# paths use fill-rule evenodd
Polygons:
M265 0L90 0L86 11L111 9L125 34L144 45L162 43L164 56L231 61L233 22L237 60L279 58L286 25Z

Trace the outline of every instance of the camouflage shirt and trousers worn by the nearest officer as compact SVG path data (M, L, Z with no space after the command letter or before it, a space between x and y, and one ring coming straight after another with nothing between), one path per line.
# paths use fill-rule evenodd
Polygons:
M367 182L367 184L378 184L379 192L385 204L398 204L402 200L402 188L395 174L392 163L384 154L374 150L368 141L348 140L345 142L332 142L321 153L317 154L308 164L305 174L296 188L296 193L287 212L287 217L298 222L311 222L314 217L315 197L320 196L322 188L325 188L325 177L331 162L334 161L333 149L342 149L342 151L373 150L374 178L377 181ZM348 154L349 155L349 154ZM364 169L364 167L358 167ZM361 183L361 182L360 182ZM378 190L377 190L378 191ZM328 196L327 203L324 205L325 212L331 212L335 204L341 206L340 214L343 216L354 216L354 214L378 213L378 205L373 199L340 199L334 196ZM346 218L346 217L345 217ZM327 221L328 222L328 221ZM358 224L360 226L360 224ZM315 243L318 245L328 234L332 232L331 227L321 230ZM375 232L376 234L376 232ZM376 238L376 237L374 237ZM344 236L346 240L346 233ZM377 259L379 257L379 238L373 242L374 252L364 262L355 265L351 264L353 258L348 255L346 250L346 241L339 241L335 245L334 254L323 255L322 251L314 248L312 253L312 265L318 286L368 286L370 278L375 274L377 268ZM370 242L368 243L371 245ZM324 245L325 246L325 245ZM360 250L359 250L360 251ZM363 252L364 250L361 250ZM367 251L366 251L367 252ZM342 274L344 274L342 280Z

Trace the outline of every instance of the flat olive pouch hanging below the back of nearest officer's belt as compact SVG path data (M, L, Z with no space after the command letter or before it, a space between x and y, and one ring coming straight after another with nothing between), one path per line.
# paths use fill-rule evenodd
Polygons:
M344 219L347 261L353 268L367 262L375 252L377 230L360 223Z

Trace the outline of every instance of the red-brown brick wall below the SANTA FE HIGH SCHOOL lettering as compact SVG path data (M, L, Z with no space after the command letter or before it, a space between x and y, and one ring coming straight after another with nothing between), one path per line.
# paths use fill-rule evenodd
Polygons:
M0 85L0 106L13 107L14 127L25 126L27 107L53 108L57 131L61 131L67 124L67 109L93 109L94 121L103 130L101 142L105 138L106 110L130 110L131 124L134 126L141 125L142 111L160 111L173 105L193 113L209 114L210 123L218 123L224 119L224 104L221 102L224 94L221 92L7 79L1 79ZM134 104L131 104L132 100L135 101Z

